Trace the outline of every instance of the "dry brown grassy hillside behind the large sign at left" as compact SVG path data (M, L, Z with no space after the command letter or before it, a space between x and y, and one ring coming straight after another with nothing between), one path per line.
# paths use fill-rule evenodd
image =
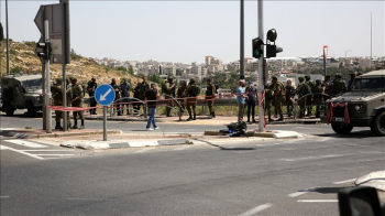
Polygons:
M41 74L42 64L34 51L34 42L10 41L10 69L21 67L24 72ZM51 64L50 69L52 79L62 76L61 64ZM0 45L0 74L1 76L7 74L6 41L2 41ZM129 78L133 85L136 85L138 80L141 82L127 72L106 67L80 55L72 55L70 64L67 64L67 76L70 75L75 75L81 83L87 83L91 77L95 77L98 84L109 84L111 78L117 78L118 83L121 78Z

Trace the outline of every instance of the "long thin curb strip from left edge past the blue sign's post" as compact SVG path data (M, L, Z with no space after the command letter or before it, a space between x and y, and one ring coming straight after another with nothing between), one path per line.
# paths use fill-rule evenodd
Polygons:
M108 134L114 134L114 133L123 133L121 130L107 130ZM43 133L43 134L36 134L36 133L18 133L18 132L7 132L1 131L1 136L4 137L12 137L12 138L19 138L19 139L33 139L33 138L61 138L61 137L75 137L75 136L90 136L90 134L103 134L103 131L87 131L87 132L61 132L61 133Z

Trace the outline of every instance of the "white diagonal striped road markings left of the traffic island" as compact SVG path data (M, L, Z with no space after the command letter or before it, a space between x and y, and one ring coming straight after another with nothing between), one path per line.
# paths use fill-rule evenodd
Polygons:
M37 160L68 159L84 155L79 154L79 151L75 149L64 149L36 141L19 139L2 140L0 150L2 154L6 154L7 151L11 151Z

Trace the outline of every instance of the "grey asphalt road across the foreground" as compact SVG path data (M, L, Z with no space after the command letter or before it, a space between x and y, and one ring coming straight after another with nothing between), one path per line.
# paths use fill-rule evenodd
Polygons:
M14 123L12 119L7 127ZM109 127L122 125L111 122ZM124 123L131 131L141 125ZM161 127L177 129L175 125ZM355 177L384 169L385 140L373 137L369 129L337 136L324 125L270 127L305 137L77 151L70 158L50 160L2 149L0 213L338 215L338 190L352 186ZM196 130L204 130L202 126ZM10 141L1 140L1 145L21 148Z

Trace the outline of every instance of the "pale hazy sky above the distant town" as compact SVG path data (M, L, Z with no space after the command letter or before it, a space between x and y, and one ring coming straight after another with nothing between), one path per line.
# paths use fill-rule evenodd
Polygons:
M57 1L9 0L9 35L38 41L34 19L41 4ZM0 0L6 31L6 1ZM264 36L276 29L277 57L384 56L385 1L263 1ZM78 1L69 0L70 47L87 57L120 61L204 63L211 55L240 60L240 1ZM244 56L258 36L257 1L244 2ZM351 50L351 51L350 51ZM348 52L346 52L348 51Z

